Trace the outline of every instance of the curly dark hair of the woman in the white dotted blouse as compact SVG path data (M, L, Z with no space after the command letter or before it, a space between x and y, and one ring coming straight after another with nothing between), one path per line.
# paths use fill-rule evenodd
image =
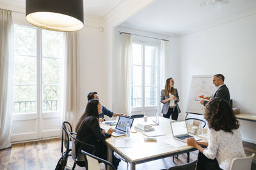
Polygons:
M240 125L227 101L218 97L206 105L204 118L215 131L233 133L232 130L238 129Z

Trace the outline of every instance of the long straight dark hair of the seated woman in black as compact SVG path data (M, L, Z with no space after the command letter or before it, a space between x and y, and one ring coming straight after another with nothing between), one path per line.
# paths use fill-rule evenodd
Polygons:
M76 125L76 132L79 132L81 130L87 117L96 117L99 119L98 104L99 100L97 99L92 99L90 102L87 103L86 109L81 118L79 118Z

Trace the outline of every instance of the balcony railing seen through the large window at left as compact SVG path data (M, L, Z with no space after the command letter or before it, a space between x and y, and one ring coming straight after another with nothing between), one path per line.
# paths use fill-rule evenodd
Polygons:
M57 111L59 106L58 103L59 101L57 100L45 100L43 101L42 111ZM36 101L15 101L13 112L14 113L36 112Z

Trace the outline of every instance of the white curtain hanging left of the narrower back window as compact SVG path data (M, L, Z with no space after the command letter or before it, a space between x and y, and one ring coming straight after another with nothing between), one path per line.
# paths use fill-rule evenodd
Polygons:
M131 35L122 34L122 81L124 82L124 113L131 114Z

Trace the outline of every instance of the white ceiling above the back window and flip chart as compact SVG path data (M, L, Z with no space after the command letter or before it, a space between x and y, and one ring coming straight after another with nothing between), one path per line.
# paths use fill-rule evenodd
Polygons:
M206 6L200 3L201 0L156 0L121 25L184 35L256 13L255 0L229 0L228 4Z

